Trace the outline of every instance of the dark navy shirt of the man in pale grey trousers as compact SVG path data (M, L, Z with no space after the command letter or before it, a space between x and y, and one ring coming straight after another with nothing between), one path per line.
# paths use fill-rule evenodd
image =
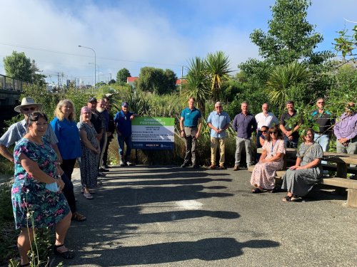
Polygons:
M233 129L237 132L237 137L249 139L251 133L256 131L256 118L251 113L244 115L241 112L234 117Z

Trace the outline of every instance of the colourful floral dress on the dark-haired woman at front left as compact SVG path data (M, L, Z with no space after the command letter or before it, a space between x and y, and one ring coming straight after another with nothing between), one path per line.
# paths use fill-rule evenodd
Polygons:
M14 148L15 175L11 201L16 229L51 227L69 214L64 194L46 189L46 183L34 179L21 165L19 157L24 153L46 174L55 176L57 155L49 142L44 138L42 140L44 143L38 145L22 138Z

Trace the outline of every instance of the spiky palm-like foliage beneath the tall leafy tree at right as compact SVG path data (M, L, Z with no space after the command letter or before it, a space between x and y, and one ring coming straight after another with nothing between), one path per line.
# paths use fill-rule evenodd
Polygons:
M284 109L289 96L289 88L300 83L308 77L306 66L298 62L277 66L266 82L266 94L271 103L278 105L280 110Z

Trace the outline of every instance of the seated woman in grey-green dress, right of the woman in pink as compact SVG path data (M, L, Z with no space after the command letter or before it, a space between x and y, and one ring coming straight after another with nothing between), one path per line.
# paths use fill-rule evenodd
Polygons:
M296 164L283 176L281 189L288 190L283 201L301 199L310 192L313 184L320 182L323 177L321 168L323 151L321 145L313 141L313 135L313 130L306 130L306 134L302 136L304 142L298 147Z

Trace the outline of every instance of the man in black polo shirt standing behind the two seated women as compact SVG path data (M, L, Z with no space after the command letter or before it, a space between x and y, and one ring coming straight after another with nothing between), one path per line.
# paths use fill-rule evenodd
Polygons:
M289 100L286 102L287 112L281 115L280 119L280 130L283 132L284 142L286 148L297 148L298 147L298 129L300 128L301 123L296 122L292 127L288 126L288 120L291 117L296 116L296 110L293 108L293 101Z

